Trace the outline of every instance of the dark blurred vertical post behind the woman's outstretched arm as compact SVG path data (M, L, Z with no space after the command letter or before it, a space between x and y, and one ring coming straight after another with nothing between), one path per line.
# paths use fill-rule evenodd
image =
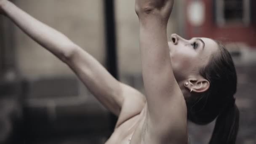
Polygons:
M104 0L104 18L105 18L105 40L107 54L107 69L118 79L117 70L117 50L116 50L116 35L115 35L115 6L114 0ZM110 114L111 130L115 128L117 117Z

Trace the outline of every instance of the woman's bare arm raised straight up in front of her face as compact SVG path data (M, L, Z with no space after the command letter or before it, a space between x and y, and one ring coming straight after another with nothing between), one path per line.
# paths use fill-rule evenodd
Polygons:
M149 112L145 137L155 138L155 144L186 142L187 109L173 75L166 32L172 7L173 0L136 0L135 6Z

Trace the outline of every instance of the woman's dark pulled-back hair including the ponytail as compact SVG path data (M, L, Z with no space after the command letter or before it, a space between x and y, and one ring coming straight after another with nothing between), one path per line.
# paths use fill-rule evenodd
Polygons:
M209 144L235 144L239 110L234 94L237 89L237 74L229 52L219 41L219 51L212 54L208 64L200 69L200 75L209 81L207 91L187 101L188 119L205 125L216 117Z

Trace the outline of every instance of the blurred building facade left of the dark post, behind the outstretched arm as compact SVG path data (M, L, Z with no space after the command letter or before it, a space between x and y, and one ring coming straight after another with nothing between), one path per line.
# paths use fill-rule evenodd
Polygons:
M103 1L12 1L105 65ZM109 112L69 67L0 19L0 144L103 143Z

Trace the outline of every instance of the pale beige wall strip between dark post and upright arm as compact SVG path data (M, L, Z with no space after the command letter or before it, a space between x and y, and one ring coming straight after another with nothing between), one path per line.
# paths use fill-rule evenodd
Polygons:
M134 11L135 0L116 0L116 29L120 75L141 72L139 21Z

